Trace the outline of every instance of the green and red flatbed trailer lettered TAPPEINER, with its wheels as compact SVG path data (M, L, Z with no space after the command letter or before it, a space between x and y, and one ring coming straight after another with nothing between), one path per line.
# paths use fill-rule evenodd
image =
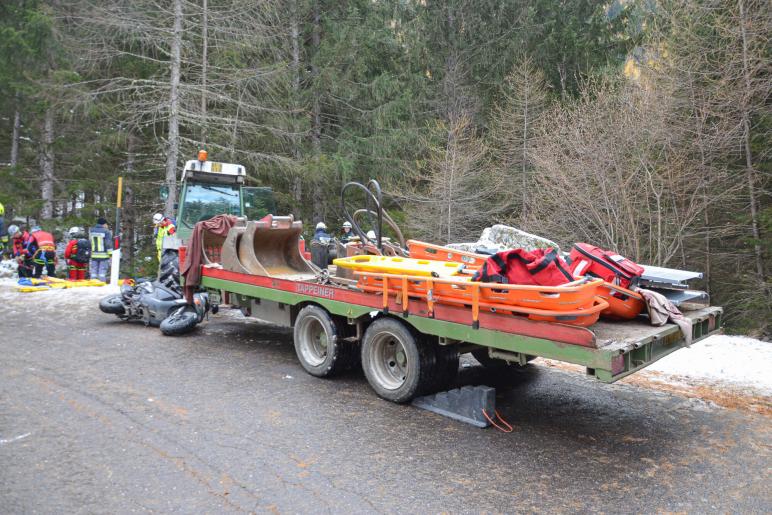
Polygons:
M490 310L473 316L469 306L365 292L324 275L269 277L203 266L201 286L247 315L294 327L298 358L312 375L333 375L361 356L370 385L394 402L447 387L465 352L483 364L525 365L537 356L565 361L613 383L685 345L676 325L653 327L645 316L589 328ZM692 342L719 332L722 312L685 312Z

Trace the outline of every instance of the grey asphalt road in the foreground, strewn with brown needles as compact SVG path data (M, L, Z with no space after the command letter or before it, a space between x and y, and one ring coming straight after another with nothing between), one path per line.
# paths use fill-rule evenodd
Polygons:
M497 386L504 434L308 376L285 329L169 338L34 295L0 307L3 513L772 511L762 415L463 369Z

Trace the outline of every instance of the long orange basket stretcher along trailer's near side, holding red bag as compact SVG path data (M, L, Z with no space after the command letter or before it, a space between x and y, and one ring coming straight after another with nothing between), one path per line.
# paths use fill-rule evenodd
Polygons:
M523 286L456 278L354 273L360 289L383 295L384 307L388 307L391 296L403 306L407 306L411 298L426 301L430 316L436 303L464 305L472 308L474 322L480 309L485 309L586 327L597 322L600 312L609 306L596 295L603 284L600 279L582 279L563 286Z

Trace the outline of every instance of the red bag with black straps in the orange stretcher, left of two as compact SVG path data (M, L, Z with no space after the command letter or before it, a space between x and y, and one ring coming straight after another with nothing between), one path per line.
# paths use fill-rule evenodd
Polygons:
M474 274L473 281L485 283L560 286L574 277L568 264L553 248L505 250L489 257Z

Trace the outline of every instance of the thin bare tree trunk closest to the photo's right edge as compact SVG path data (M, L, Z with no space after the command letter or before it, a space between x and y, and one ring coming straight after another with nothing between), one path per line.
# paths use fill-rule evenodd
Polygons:
M751 152L751 124L748 112L747 99L752 94L751 78L748 66L748 36L746 34L745 5L744 0L738 0L740 8L740 34L743 43L743 77L745 79L745 92L742 105L743 123L743 151L745 153L745 181L748 184L748 199L751 209L751 233L753 234L753 253L756 258L756 278L759 284L764 284L764 258L761 253L761 234L759 231L759 216L756 206L756 173L753 169L753 154Z

